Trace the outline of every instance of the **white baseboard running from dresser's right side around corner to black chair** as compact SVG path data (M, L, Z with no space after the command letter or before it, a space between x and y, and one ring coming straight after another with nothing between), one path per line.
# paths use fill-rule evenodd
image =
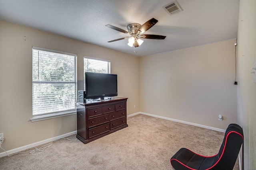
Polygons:
M220 131L220 132L224 132L224 133L226 132L226 130L224 130L224 129L218 129L218 128L216 128L216 127L210 127L210 126L200 125L200 124L196 124L196 123L191 123L191 122L187 122L187 121L181 121L181 120L172 119L172 118L163 117L163 116L158 116L158 115L152 115L152 114L143 113L143 112L134 113L134 114L128 115L127 117L135 116L135 115L138 115L138 114L148 115L148 116L158 117L158 118L166 119L166 120L170 120L170 121L176 121L176 122L184 123L184 124L188 124L188 125L203 127L203 128L211 129L211 130L214 130L214 131Z

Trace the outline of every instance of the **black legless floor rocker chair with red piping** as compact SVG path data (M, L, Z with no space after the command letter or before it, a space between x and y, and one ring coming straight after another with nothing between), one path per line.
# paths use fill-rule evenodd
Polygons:
M182 148L172 156L170 162L175 170L233 170L243 141L242 127L230 124L218 154L202 156Z

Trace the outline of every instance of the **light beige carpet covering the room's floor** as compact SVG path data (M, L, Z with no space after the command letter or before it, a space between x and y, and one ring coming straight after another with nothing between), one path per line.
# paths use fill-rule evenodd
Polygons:
M180 148L211 156L218 153L224 137L218 131L142 114L129 117L127 123L128 127L88 144L60 139L38 155L2 157L0 169L173 170L170 158ZM238 163L234 170L239 170Z

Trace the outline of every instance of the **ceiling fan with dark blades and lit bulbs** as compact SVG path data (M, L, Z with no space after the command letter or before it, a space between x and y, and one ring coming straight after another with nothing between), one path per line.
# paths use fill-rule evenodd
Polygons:
M116 31L120 31L122 33L126 33L126 34L130 35L129 37L123 37L123 38L119 38L119 39L114 39L112 41L108 41L108 43L128 38L129 39L128 45L130 47L132 47L132 46L139 47L143 43L143 40L141 40L140 38L165 39L166 36L163 36L163 35L142 34L145 31L147 31L148 29L150 29L151 27L153 27L157 22L158 22L158 20L156 20L155 18L151 18L150 20L146 21L142 25L140 25L139 23L131 23L131 24L127 25L128 31L118 28L118 27L115 27L113 25L106 25L106 27L109 27Z

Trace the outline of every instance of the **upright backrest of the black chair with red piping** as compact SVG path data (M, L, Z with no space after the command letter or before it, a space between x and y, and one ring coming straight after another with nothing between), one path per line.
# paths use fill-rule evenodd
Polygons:
M244 133L242 127L237 124L228 125L220 150L215 156L212 169L233 170L243 141Z

